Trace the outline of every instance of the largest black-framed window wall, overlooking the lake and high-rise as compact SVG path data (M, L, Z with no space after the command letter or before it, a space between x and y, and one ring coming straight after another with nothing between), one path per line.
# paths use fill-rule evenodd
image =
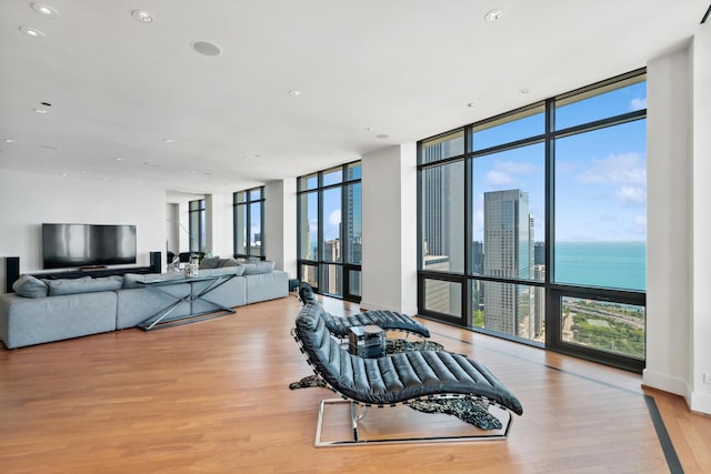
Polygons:
M419 143L420 313L644 364L644 71Z

